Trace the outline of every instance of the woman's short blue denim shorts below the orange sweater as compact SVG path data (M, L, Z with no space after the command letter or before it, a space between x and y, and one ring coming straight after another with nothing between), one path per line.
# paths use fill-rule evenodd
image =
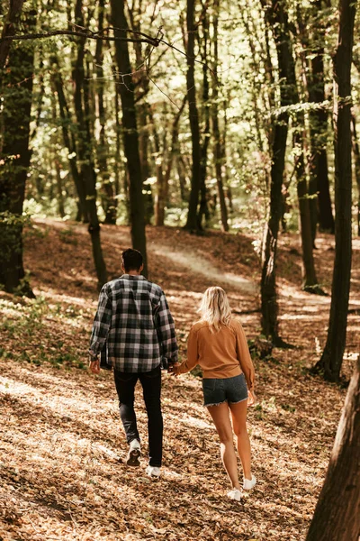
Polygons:
M247 399L247 382L244 374L222 380L204 378L202 390L204 406L219 406L223 402L236 404Z

